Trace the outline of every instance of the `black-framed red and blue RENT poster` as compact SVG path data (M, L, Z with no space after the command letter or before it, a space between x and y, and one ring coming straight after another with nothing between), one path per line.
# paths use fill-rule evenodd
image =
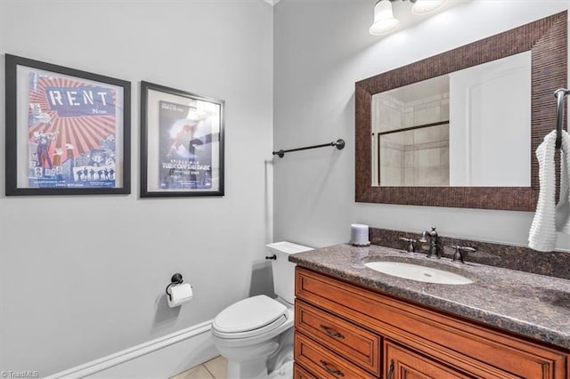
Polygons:
M6 195L130 193L130 82L5 63Z

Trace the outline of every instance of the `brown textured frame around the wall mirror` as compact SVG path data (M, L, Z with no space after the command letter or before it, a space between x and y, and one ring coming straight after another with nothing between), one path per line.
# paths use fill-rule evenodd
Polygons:
M355 199L358 202L533 211L538 198L534 151L556 125L554 91L567 86L567 12L536 20L355 84ZM376 93L511 55L531 53L530 186L403 187L372 185L371 102ZM506 99L505 101L509 101ZM565 120L566 125L566 120ZM504 141L509 149L509 141Z

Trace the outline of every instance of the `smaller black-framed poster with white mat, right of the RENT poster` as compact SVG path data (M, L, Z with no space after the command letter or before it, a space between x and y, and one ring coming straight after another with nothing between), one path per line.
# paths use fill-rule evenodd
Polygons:
M141 82L141 198L224 196L224 101Z

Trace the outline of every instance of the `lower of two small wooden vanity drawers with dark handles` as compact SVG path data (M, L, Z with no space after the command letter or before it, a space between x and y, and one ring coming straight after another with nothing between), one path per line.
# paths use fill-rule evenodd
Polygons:
M369 372L315 343L301 333L295 333L295 362L318 378L374 378Z

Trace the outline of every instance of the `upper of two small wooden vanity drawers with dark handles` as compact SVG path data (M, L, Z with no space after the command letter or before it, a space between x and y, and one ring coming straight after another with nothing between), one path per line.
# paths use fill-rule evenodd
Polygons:
M297 300L295 327L323 346L335 351L354 364L380 375L380 337L319 310L306 302Z

